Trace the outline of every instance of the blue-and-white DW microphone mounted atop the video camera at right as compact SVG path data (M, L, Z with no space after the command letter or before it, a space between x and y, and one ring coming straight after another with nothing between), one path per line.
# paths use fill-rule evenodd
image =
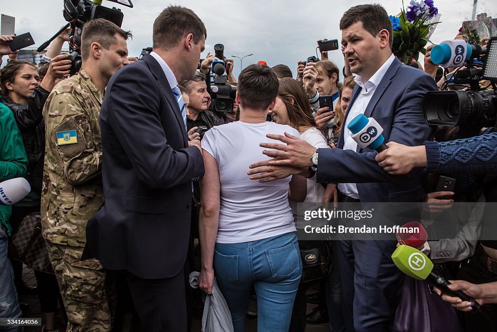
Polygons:
M467 60L487 52L480 45L470 45L463 39L446 40L431 49L430 59L435 65L445 68L460 67Z

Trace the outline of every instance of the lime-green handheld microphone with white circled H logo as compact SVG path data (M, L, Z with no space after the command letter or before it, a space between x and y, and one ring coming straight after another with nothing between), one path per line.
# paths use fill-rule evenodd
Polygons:
M403 273L417 280L426 280L429 284L440 288L443 293L456 296L463 301L471 303L473 310L479 310L480 304L471 296L466 295L461 291L451 291L447 286L450 285L444 277L433 272L433 263L421 251L416 248L399 245L392 254L392 259L395 265Z

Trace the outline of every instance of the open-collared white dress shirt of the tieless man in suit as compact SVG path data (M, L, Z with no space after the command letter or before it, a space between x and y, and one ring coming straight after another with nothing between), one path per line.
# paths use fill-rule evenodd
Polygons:
M357 96L357 98L355 99L354 103L350 106L350 110L347 115L347 120L342 126L342 130L344 130L343 131L344 150L353 150L353 151L357 150L357 143L353 140L352 132L347 128L347 126L354 117L356 117L359 114L364 114L364 111L366 110L369 101L371 100L371 97L373 97L376 88L383 79L383 76L385 76L385 73L387 72L388 68L390 68L390 65L394 62L394 59L395 56L393 54L390 55L387 61L385 61L385 63L376 71L376 73L374 73L373 76L371 76L369 81L367 81L366 83L363 83L362 78L358 75L354 78L355 83L357 83L357 85L362 89L359 95ZM359 192L357 191L357 185L355 183L339 183L338 189L344 195L347 195L351 198L360 199Z

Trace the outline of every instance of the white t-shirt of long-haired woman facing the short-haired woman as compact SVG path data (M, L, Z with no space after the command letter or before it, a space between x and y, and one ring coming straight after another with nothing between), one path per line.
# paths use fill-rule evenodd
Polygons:
M300 137L315 148L330 148L326 143L326 139L317 128L309 128L302 133ZM307 196L304 203L315 203L323 202L323 195L325 194L325 187L321 183L316 182L316 175L312 178L307 179ZM304 228L308 222L304 221L304 215L302 213L297 214L297 203L290 201L290 208L292 208L292 213L295 218L295 225L297 228Z

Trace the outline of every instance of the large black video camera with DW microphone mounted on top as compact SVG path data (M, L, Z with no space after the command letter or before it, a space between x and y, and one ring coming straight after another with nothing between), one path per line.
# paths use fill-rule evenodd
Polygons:
M431 49L430 58L443 67L457 64L447 86L467 86L470 90L428 92L424 100L426 122L459 126L457 138L478 135L483 127L494 127L497 122L497 37L490 38L486 48L462 43L443 42ZM489 80L493 90L481 88L481 80Z

